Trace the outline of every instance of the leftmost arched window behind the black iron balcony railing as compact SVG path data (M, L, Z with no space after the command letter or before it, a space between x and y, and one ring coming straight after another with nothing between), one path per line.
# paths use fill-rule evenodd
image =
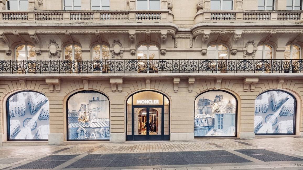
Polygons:
M20 45L16 48L16 60L35 60L35 47L32 45Z

